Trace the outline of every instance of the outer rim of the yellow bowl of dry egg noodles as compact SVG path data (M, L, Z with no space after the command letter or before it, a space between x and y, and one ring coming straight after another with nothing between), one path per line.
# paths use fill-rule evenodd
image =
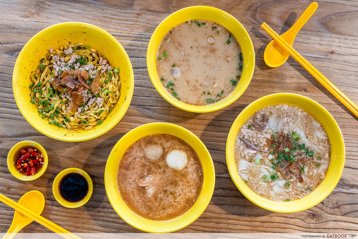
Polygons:
M124 53L124 58L125 58L125 62L127 63L128 65L128 69L129 69L129 72L130 72L130 81L131 81L131 84L130 84L130 92L129 94L127 95L127 97L129 97L129 100L128 101L124 101L123 104L121 105L121 107L126 107L126 111L128 110L128 107L130 105L130 102L132 100L132 96L133 96L133 91L134 91L134 72L133 72L133 67L132 67L132 63L128 57L128 54L127 52L125 51L125 49L123 48L123 46L121 45L120 42L118 42L118 40L113 37L110 33L108 33L106 30L100 28L100 27L97 27L95 25L92 25L92 24L89 24L89 23L83 23L83 22L79 22L79 21L68 21L68 22L63 22L63 23L57 23L57 24L54 24L54 25L51 25L49 27L46 27L42 30L40 30L38 33L36 33L33 37L31 37L28 42L26 42L26 44L24 45L24 47L21 49L18 57L16 58L16 61L15 61L15 65L14 65L14 70L13 70L13 78L12 78L12 86L13 86L13 95L14 95L14 98L15 98L15 102L16 102L16 105L18 106L21 114L24 116L24 118L26 119L26 121L28 121L28 123L33 126L36 130L38 130L40 133L50 137L50 138L53 138L53 139L57 139L57 140L61 140L61 141L65 141L65 142L81 142L81 141L86 141L86 140L89 140L89 139L94 139L94 138L97 138L99 136L101 136L102 134L105 134L107 133L109 130L111 130L116 124L118 124L118 122L123 118L123 116L125 115L126 111L124 112L124 114L121 116L121 117L116 117L117 120L113 121L112 124L108 125L107 128L104 128L103 130L101 131L98 131L97 133L93 134L93 135L90 135L88 137L77 137L76 136L73 136L71 138L65 138L65 137L60 137L60 136L57 136L57 135L54 135L54 134L51 134L51 133L48 133L46 130L44 130L42 127L40 127L39 125L35 124L32 122L31 118L29 117L29 115L26 113L26 110L23 108L23 106L20 104L20 100L19 100L19 97L17 96L16 94L16 89L17 87L15 86L15 81L16 81L16 70L17 68L19 67L19 62L20 62L20 59L22 58L26 48L28 48L30 42L32 42L34 39L36 39L39 35L43 34L43 32L46 32L50 29L56 29L58 26L61 26L61 25L73 25L73 26L78 26L78 25L81 25L81 26L84 26L84 27L89 27L89 28L93 28L95 30L97 30L99 33L105 35L106 37L108 37L109 39L111 39L113 42L115 42L117 44L117 47ZM81 135L81 134L78 134L78 135Z

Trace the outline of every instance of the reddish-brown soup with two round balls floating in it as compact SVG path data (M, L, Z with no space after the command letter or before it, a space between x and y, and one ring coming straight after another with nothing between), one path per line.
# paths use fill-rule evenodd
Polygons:
M184 214L198 199L203 168L184 140L152 134L126 150L118 165L117 185L122 199L136 214L169 220Z

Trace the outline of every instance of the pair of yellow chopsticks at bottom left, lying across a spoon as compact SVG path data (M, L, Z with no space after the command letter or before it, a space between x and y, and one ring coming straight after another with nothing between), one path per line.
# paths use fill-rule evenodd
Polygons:
M22 214L28 216L29 218L33 219L34 221L37 221L39 224L45 226L46 228L54 231L55 233L58 233L63 238L66 239L81 239L80 237L72 234L71 232L67 231L66 229L62 228L61 226L53 223L50 220L47 220L43 216L40 216L33 212L30 209L27 209L23 205L19 204L18 202L15 202L14 200L9 199L8 197L4 196L0 193L0 201L4 202L4 204L12 207L13 209L21 212Z

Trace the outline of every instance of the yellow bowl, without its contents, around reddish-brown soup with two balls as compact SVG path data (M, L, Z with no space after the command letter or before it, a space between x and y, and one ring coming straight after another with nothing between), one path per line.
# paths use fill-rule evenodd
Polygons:
M198 200L183 215L171 220L154 221L137 215L125 204L117 187L117 168L124 152L138 139L150 134L171 134L185 140L185 142L187 142L198 154L203 166L203 189ZM203 142L189 130L169 123L145 124L125 134L113 147L106 164L105 186L108 199L111 202L113 209L131 226L151 233L176 231L195 221L208 206L215 186L214 164L210 153Z

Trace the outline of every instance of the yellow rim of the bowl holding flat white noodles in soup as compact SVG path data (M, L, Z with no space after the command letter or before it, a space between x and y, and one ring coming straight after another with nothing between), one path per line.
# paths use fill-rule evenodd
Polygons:
M267 101L269 102L270 99L272 97L280 97L280 96L284 96L284 97L294 97L296 99L300 99L302 100L303 102L306 101L306 102L310 102L312 103L315 107L318 107L320 108L320 110L322 110L325 114L325 116L327 116L331 122L333 123L333 125L335 126L335 128L337 129L337 133L338 135L336 135L337 137L339 137L339 140L341 142L341 144L339 145L339 147L342 149L342 157L340 158L340 167L336 169L336 173L335 173L335 176L334 179L333 179L333 183L332 185L330 185L329 189L327 191L325 191L323 193L323 195L320 195L319 197L317 197L316 199L314 200L311 200L308 204L305 204L305 205L300 205L300 206L296 206L295 208L290 208L290 209L282 209L279 204L281 204L282 202L277 202L277 206L267 206L266 205L266 202L275 202L273 200L269 200L269 199L266 199L265 197L262 197L260 195L258 195L256 192L252 191L250 187L248 187L247 185L241 185L242 183L240 183L239 181L241 180L242 182L242 179L240 177L240 175L238 175L238 172L237 172L237 169L236 169L236 166L233 166L233 164L235 164L235 158L234 158L234 155L233 155L233 151L234 151L234 144L235 144L235 140L236 140L236 137L237 137L237 133L236 133L236 129L240 129L242 125L238 125L238 121L240 120L241 117L245 117L244 114L246 113L246 111L250 111L251 107L255 104L257 104L257 102L260 102L260 101ZM267 104L267 106L269 105L277 105L277 104ZM289 105L292 105L292 104L289 104ZM297 105L295 105L297 106ZM266 106L264 106L266 107ZM301 107L301 106L297 106L297 107ZM261 107L262 109L263 107ZM304 109L304 107L301 107L301 109ZM305 110L305 109L304 109ZM250 117L252 114L250 114L248 117ZM246 120L245 120L246 121ZM245 124L245 122L244 122ZM230 131L229 131L229 134L228 134L228 137L227 137L227 142L226 142L226 164L227 164L227 167L228 167L228 171L229 171L229 174L231 176L231 179L232 181L234 182L234 184L236 185L236 187L238 188L238 190L248 199L250 200L253 204L256 204L257 206L259 207L262 207L263 209L266 209L266 210L269 210L269 211L274 211L274 212L284 212L284 213L289 213L289 212L299 212L299 211L303 211L303 210L306 210L306 209L309 209L317 204L319 204L321 201L323 201L335 188L335 186L337 185L340 177L342 176L342 172L343 172L343 168L344 168L344 161L345 161L345 145L344 145L344 140L343 140L343 135L342 135L342 132L337 124L337 122L335 121L335 119L333 118L333 116L329 113L328 110L326 110L322 105L320 105L318 102L310 99L309 97L306 97L306 96L303 96L303 95L300 95L300 94L295 94L295 93L275 93L275 94L270 94L270 95L266 95L266 96L263 96L263 97L260 97L258 98L257 100L253 101L251 104L249 104L248 106L245 107L245 109L243 109L241 111L241 113L236 117L236 119L234 120L231 128L230 128ZM234 162L234 163L232 163ZM316 188L317 189L317 188ZM315 190L316 190L315 189ZM315 191L314 190L314 191ZM312 191L312 192L314 192ZM255 195L257 196L257 199L253 199L250 195L249 195L249 192L253 192L255 193ZM309 194L310 195L310 194ZM255 196L255 197L256 197ZM296 201L299 201L300 199L298 200L293 200L293 201L290 201L290 202L284 202L286 205L289 205ZM275 202L276 203L276 202Z

